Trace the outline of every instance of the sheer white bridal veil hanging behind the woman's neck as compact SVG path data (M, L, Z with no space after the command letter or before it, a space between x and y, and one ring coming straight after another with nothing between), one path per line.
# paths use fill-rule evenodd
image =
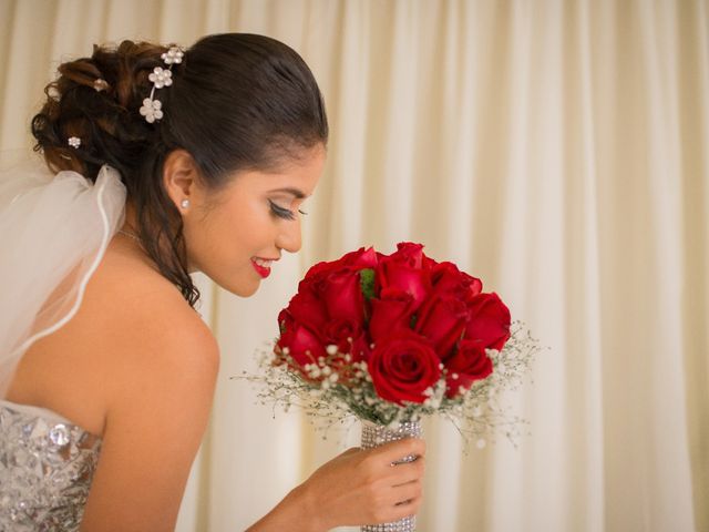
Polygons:
M124 207L107 165L95 184L37 162L0 172L0 399L27 349L76 314Z

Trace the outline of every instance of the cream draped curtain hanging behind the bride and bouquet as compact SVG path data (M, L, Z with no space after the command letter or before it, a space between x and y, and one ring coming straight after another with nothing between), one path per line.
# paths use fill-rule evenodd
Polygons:
M518 449L427 423L420 530L709 531L709 2L0 0L0 150L60 60L223 31L298 50L332 133L302 252L250 299L201 279L223 362L178 530L244 530L357 443L229 377L310 264L405 239L548 347Z

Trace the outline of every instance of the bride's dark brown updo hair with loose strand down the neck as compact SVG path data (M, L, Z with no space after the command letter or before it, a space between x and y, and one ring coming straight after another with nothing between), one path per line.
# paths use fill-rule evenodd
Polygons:
M328 123L300 55L267 37L224 33L203 38L173 65L173 84L155 92L164 116L150 124L138 110L167 48L123 41L61 64L32 134L54 172L95 180L109 164L121 173L145 252L194 306L199 291L187 273L182 216L163 186L165 157L186 150L207 186L218 188L228 174L274 168L326 144ZM96 90L96 80L105 90ZM71 136L81 139L78 149L69 146Z

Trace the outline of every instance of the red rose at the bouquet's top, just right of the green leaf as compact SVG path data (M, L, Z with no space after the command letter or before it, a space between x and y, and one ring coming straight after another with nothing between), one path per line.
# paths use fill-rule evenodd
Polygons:
M379 259L374 270L377 291L387 288L413 296L414 309L419 308L431 291L431 272L422 268L423 246L399 244L399 250Z

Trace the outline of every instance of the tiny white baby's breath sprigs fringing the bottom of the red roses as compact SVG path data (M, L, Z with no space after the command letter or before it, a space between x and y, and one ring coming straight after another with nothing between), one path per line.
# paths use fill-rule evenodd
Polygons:
M261 351L259 372L237 378L261 385L258 401L285 409L298 406L309 418L327 419L326 427L356 417L391 428L423 416L441 415L459 429L465 448L474 441L482 449L487 441L494 441L495 434L513 443L523 434L524 421L507 413L500 398L503 392L518 388L538 350L538 342L520 324L514 324L505 347L501 351L487 350L494 366L487 378L469 388L460 386L454 397L448 397L446 375L442 372L439 381L424 391L421 403L398 405L381 399L367 362L352 361L352 356L339 352L336 345L327 346L327 356L305 365L297 364L287 347L268 346ZM450 377L458 379L461 375L455 371Z

